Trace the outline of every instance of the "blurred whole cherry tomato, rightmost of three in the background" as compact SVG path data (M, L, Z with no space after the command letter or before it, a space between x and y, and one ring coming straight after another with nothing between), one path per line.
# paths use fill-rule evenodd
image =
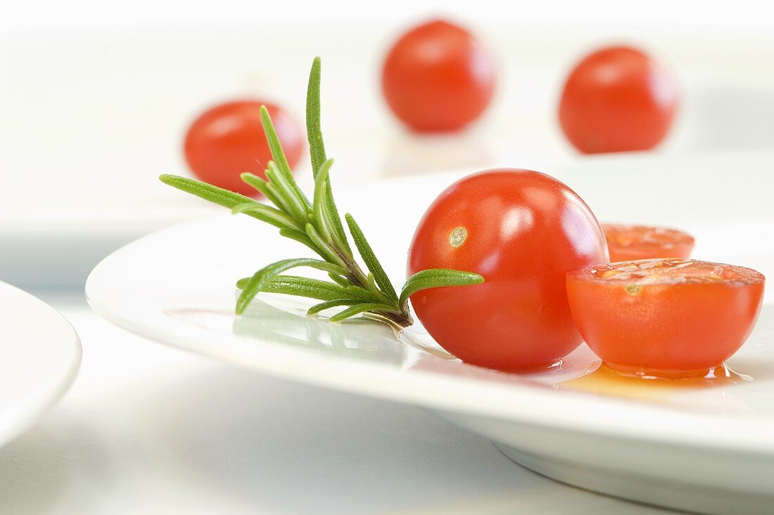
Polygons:
M559 120L580 152L646 150L669 132L677 102L673 78L656 61L611 46L585 57L567 77Z

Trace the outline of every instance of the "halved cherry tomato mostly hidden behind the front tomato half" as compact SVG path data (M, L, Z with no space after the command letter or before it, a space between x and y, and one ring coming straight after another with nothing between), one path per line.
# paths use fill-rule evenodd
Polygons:
M677 229L602 224L602 230L613 263L662 257L688 259L694 249L694 237Z

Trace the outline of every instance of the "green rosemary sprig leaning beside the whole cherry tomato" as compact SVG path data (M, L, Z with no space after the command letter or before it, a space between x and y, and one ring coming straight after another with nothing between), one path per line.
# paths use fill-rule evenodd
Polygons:
M409 297L427 288L465 286L483 283L477 273L459 270L423 270L406 280L400 294L385 273L382 264L365 239L360 226L350 214L346 214L354 248L365 262L365 270L354 258L344 223L339 216L330 187L330 167L333 160L325 154L320 129L320 58L313 64L307 89L307 137L314 177L311 197L303 194L293 179L285 152L279 142L272 119L266 108L261 109L261 121L272 151L265 179L252 173L242 173L241 179L254 187L274 204L274 207L255 201L245 195L224 190L198 180L162 175L163 183L194 194L204 200L231 209L235 214L252 216L279 228L279 234L303 243L321 259L283 259L264 266L251 277L238 280L241 294L236 312L241 314L259 292L298 295L322 300L310 307L308 314L317 314L333 307L343 307L331 321L341 321L358 314L389 321L400 327L413 323L409 314ZM298 267L310 267L327 272L330 280L283 275Z

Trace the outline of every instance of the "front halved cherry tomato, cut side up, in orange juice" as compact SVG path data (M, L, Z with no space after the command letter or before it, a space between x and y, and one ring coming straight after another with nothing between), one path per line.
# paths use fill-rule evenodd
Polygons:
M764 282L741 266L641 259L568 273L567 297L580 334L612 369L694 376L745 342Z

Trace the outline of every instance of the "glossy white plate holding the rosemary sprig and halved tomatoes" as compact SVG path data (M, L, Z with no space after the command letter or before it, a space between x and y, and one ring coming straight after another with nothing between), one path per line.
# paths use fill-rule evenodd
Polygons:
M766 273L772 271L772 156L616 158L560 176L602 218L670 221L697 235L701 258ZM731 180L712 180L732 165ZM340 188L337 196L340 206L358 215L395 273L403 270L417 217L453 175ZM396 201L403 211L389 218L374 214ZM774 306L765 307L754 334L729 363L752 381L703 387L610 383L594 373L598 360L585 346L560 369L516 376L450 359L421 328L398 342L378 324L307 318L298 300L285 297L262 297L245 316L233 316L236 279L303 254L252 219L207 218L149 235L104 259L87 281L87 297L104 317L159 342L430 408L560 481L703 513L770 513Z

